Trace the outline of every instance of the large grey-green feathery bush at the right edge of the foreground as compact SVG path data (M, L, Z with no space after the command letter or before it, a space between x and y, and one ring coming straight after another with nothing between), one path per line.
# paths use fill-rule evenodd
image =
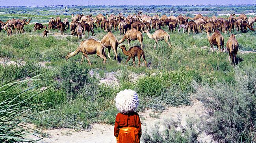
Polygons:
M234 69L234 84L194 84L197 98L208 109L202 130L225 143L254 142L256 138L256 70Z

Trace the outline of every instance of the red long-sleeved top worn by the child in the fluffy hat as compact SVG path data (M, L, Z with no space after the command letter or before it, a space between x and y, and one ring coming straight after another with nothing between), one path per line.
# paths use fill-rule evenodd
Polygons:
M121 128L124 127L135 127L136 132L135 134L138 136L138 138L141 138L141 120L139 119L139 114L136 112L131 112L128 114L122 114L118 113L115 118L115 129L114 129L114 136L119 136L119 131ZM118 141L120 143L122 142L130 142L128 141ZM136 141L135 141L136 142Z

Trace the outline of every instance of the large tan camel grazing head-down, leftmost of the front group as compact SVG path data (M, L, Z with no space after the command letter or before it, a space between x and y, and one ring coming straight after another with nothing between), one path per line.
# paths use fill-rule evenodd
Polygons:
M106 55L106 53L104 50L105 50L104 46L100 42L97 42L94 39L84 40L80 43L80 45L74 52L68 52L65 58L66 60L68 60L72 56L75 56L79 52L82 52L83 56L85 56L85 58L87 59L89 65L91 65L91 62L89 60L88 54L97 54L97 56L102 58L103 62L106 63L106 57L104 56ZM83 62L83 56L82 56L81 64Z

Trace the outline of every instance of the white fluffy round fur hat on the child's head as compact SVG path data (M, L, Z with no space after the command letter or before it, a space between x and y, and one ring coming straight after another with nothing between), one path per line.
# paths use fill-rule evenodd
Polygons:
M135 91L125 89L117 93L115 107L121 113L134 112L139 105L139 98Z

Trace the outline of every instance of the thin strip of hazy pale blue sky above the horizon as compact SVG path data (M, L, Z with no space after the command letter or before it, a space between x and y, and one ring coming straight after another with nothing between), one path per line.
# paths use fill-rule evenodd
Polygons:
M256 0L0 0L0 6L256 4Z

